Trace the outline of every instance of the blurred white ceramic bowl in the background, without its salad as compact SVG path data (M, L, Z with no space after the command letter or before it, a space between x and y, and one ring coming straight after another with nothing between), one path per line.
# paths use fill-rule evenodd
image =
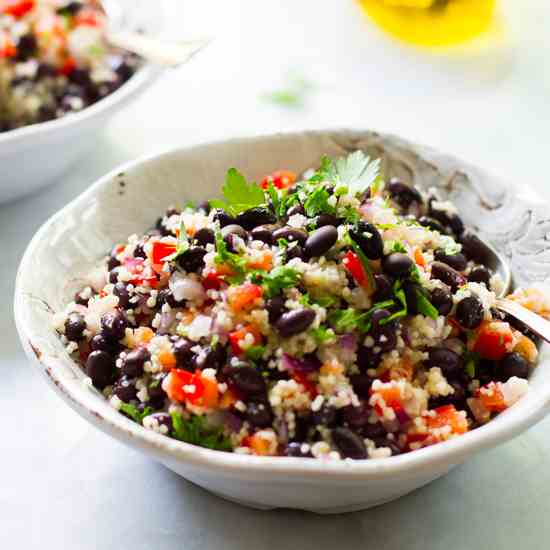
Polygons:
M145 15L149 18L142 28L157 32L165 27L162 9L150 6ZM114 93L78 113L0 133L0 204L54 183L91 149L108 119L161 72L144 65Z

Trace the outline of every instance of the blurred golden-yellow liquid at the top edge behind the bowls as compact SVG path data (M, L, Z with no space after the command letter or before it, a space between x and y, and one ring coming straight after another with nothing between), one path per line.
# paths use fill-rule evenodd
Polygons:
M382 29L425 47L462 44L492 30L496 0L358 0Z

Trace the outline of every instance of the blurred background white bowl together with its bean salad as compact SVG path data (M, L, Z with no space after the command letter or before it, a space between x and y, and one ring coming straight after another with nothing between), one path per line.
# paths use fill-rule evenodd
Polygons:
M163 27L158 6L138 13L129 28ZM0 202L52 183L158 76L108 44L107 24L94 0L0 2Z

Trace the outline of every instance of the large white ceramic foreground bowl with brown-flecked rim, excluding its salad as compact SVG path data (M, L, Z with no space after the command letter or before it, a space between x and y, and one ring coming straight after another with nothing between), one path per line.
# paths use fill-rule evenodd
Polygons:
M51 319L81 288L87 270L113 242L148 228L170 204L217 195L230 166L257 179L277 168L301 172L316 165L323 154L341 155L357 148L382 155L386 175L399 174L423 187L436 185L450 190L467 222L483 219L486 227L475 223L478 229L489 232L493 243L513 264L518 250L523 252L521 264L529 266L525 247L503 250L503 243L535 239L544 213L539 216L536 209L478 170L426 148L391 136L356 131L201 145L145 158L113 171L38 231L21 262L15 295L17 327L28 356L57 393L95 426L190 481L258 508L342 512L381 504L443 475L473 453L526 430L550 408L550 363L546 360L534 372L527 396L486 426L409 454L355 462L243 456L181 443L128 420L83 383L83 372L65 352L51 328ZM527 211L529 220L524 216ZM516 276L523 279L529 278L524 277L526 273L538 272L516 270Z

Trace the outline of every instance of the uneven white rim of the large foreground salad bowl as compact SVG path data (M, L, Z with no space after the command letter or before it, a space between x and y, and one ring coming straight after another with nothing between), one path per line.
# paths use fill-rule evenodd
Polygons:
M356 134L359 130L356 128L334 128L315 130L307 133L312 135L324 135L346 132ZM394 474L412 473L435 465L458 464L475 452L512 439L541 420L550 412L550 384L546 384L545 387L539 388L536 392L530 387L529 393L511 409L501 413L496 419L484 426L455 439L390 458L360 461L330 461L293 457L240 455L205 449L146 430L117 411L114 411L107 400L103 398L95 399L90 388L85 386L81 379L67 380L66 377L63 376L63 371L66 370L66 367L62 364L62 361L53 354L48 355L42 352L33 344L33 339L37 334L33 332L29 323L25 320L25 315L23 315L25 308L28 309L31 307L28 303L25 303L24 298L24 279L27 276L25 268L29 263L29 259L33 256L34 251L40 247L43 236L47 233L48 228L53 224L62 220L69 212L77 208L80 203L85 202L89 197L97 193L99 189L112 185L117 174L146 167L150 161L162 161L162 159L192 149L200 150L204 147L221 144L239 144L246 147L248 143L262 138L273 138L276 136L281 136L283 138L293 137L303 133L304 132L288 132L283 134L262 134L245 138L238 137L145 155L137 160L133 160L115 168L54 214L44 225L42 225L32 238L17 272L14 298L15 321L22 344L29 358L36 359L44 367L44 369L41 370L45 370L45 374L50 378L50 381L56 386L58 392L62 394L62 397L64 397L73 409L81 416L84 416L88 420L92 420L93 423L103 431L124 440L128 444L137 444L140 448L152 453L161 461L164 459L168 461L177 460L183 463L197 465L208 470L215 471L222 469L224 472L232 474L240 473L243 476L247 476L251 472L254 472L314 479L329 474L331 479L344 481L346 479L366 480ZM381 135L387 136L387 134L383 133L381 133ZM418 145L415 146L418 147ZM458 161L456 157L441 155L433 148L424 147L423 149L437 152L440 158L445 157L453 159L455 162ZM465 162L458 162L463 166L468 166ZM539 369L545 362L547 363L547 367L550 368L550 362L544 355L546 354L543 354L540 358ZM76 365L76 362L72 361L72 363ZM94 398L92 399L91 397ZM116 413L114 416L112 415L113 412ZM519 414L519 412L521 412L521 414Z

